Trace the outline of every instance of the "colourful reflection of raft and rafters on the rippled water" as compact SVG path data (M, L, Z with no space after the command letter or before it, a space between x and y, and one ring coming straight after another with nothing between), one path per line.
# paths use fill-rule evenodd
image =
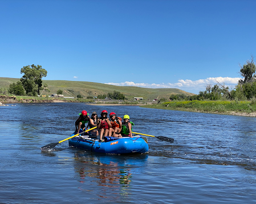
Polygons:
M75 172L80 183L87 183L84 188L90 189L89 183L101 186L101 195L129 194L132 172L141 170L147 165L147 154L135 156L113 156L93 153L75 153ZM83 190L86 190L83 189Z

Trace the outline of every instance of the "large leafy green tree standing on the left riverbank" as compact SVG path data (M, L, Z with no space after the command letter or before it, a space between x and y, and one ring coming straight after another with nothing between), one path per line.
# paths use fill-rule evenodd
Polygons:
M47 71L42 66L26 66L21 68L21 82L26 90L27 95L36 96L39 95L39 91L42 90L42 77L47 76Z

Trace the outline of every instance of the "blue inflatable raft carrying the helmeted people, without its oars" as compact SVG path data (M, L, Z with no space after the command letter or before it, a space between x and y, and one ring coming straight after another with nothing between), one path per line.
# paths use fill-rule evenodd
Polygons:
M72 134L71 136L74 136ZM88 136L73 137L68 140L69 146L90 150L91 152L109 154L129 154L148 152L148 144L141 137L105 137L104 142L99 142L97 138Z

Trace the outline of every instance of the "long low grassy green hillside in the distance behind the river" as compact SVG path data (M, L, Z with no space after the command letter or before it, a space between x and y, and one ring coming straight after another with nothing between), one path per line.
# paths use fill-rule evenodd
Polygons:
M0 88L9 88L11 83L17 82L17 78L0 77ZM97 96L107 94L108 92L119 91L125 95L128 99L133 97L143 97L144 99L169 99L172 94L184 94L192 96L194 93L188 93L177 88L141 88L141 87L120 87L116 85L108 85L101 83L94 83L88 81L62 81L62 80L43 80L43 83L48 84L50 92L44 92L43 94L51 95L56 93L58 89L63 90L64 96L76 97L77 95Z

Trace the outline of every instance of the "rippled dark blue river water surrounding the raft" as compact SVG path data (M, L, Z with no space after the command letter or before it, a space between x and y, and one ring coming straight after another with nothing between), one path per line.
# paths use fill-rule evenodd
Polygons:
M256 119L83 103L0 107L0 203L255 203ZM56 146L78 113L103 109L135 123L149 152L95 154Z

